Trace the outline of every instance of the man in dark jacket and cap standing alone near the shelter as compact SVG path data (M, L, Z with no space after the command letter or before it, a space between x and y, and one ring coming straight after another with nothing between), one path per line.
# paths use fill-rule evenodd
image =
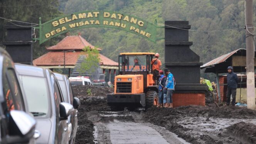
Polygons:
M232 95L231 105L234 106L236 102L236 88L239 82L237 74L233 72L232 66L227 67L227 103L224 106L229 106L230 96Z

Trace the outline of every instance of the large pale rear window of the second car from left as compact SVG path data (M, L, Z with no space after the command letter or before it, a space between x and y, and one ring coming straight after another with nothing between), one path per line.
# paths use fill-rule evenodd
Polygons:
M29 112L34 116L46 116L49 111L49 90L46 78L20 75Z

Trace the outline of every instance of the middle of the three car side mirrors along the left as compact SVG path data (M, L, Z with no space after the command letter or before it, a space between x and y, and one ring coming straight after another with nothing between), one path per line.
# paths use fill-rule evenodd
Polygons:
M69 104L69 103L64 103L62 102L60 105L59 105L59 112L60 112L60 116L61 116L61 119L64 120L64 119L67 119L67 117L74 112L74 107Z

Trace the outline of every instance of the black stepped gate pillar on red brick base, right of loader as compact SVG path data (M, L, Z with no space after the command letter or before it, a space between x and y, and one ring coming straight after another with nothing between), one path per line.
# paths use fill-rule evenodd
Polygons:
M170 69L176 81L174 107L205 105L207 86L200 84L202 63L190 49L193 42L189 41L189 29L189 21L165 21L165 67Z

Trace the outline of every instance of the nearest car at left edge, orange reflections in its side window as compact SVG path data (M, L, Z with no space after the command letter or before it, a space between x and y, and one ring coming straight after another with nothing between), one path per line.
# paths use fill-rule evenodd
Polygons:
M28 114L27 101L14 64L8 53L0 48L0 143L34 144L40 136L35 132L35 119ZM34 137L33 137L34 136Z

